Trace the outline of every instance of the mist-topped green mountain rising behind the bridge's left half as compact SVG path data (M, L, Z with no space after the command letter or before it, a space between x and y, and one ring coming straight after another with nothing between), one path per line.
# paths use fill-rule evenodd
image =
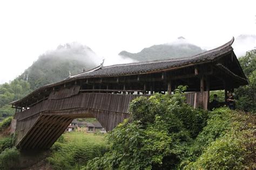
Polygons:
M45 84L65 79L71 74L80 73L99 65L98 58L91 48L76 42L59 45L55 50L45 52L33 64L18 77L26 80L32 89ZM97 63L98 62L98 63Z

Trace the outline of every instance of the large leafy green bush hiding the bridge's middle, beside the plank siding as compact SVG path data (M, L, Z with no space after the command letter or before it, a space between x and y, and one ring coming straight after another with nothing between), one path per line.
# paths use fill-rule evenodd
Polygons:
M206 112L174 95L138 97L130 104L131 119L109 132L110 152L85 169L172 169L187 157L189 145L206 125Z

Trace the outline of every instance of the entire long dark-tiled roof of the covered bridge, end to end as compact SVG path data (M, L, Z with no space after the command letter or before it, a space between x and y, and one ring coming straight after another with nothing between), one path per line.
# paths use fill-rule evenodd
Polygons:
M234 55L234 60L237 60L237 58L235 57L235 54L233 53L233 48L231 46L233 44L233 41L234 41L234 38L232 38L230 41L228 41L226 44L222 46L219 46L217 48L211 49L209 51L206 51L197 55L188 56L186 58L156 60L156 61L148 61L148 62L134 62L134 63L126 63L126 64L120 64L120 65L106 66L106 67L99 66L87 72L72 75L60 82L47 84L33 91L31 94L29 94L28 96L25 96L21 100L14 101L10 104L16 105L17 103L25 102L25 100L28 100L28 98L30 98L31 96L41 93L44 90L46 91L46 89L53 88L56 86L61 86L62 84L69 83L69 82L75 82L77 80L97 78L97 77L98 78L122 77L122 76L130 76L130 75L163 73L171 70L187 68L191 66L205 64L205 63L214 63L214 66L219 67L218 69L223 70L223 72L233 77L237 76L237 78L241 80L240 81L241 83L236 84L236 86L245 85L248 83L247 78L242 72L242 69L238 61L236 62L238 63L238 65L232 66L232 67L239 67L239 68L236 68L237 70L239 70L237 72L238 75L233 74L231 70L227 69L225 66L221 64L216 65L216 62L215 62L227 55L232 55L232 61L233 61L233 55Z

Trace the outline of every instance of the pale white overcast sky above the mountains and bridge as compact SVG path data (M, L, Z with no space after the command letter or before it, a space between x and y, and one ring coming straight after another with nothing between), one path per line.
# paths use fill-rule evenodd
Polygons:
M179 36L216 47L256 34L256 1L0 1L0 83L59 44L80 42L113 60L120 51Z

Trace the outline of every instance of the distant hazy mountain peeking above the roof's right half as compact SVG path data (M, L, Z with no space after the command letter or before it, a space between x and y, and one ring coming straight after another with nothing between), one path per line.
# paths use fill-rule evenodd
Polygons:
M179 37L171 44L153 45L151 47L144 48L138 53L122 51L119 55L137 61L151 61L191 56L204 51L204 49L187 42L185 38Z

